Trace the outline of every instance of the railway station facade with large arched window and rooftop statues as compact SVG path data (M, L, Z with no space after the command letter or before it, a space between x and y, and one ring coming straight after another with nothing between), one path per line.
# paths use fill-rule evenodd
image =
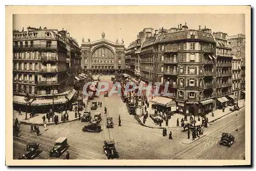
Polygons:
M124 41L109 41L102 32L101 39L84 41L82 39L82 70L92 74L124 73Z

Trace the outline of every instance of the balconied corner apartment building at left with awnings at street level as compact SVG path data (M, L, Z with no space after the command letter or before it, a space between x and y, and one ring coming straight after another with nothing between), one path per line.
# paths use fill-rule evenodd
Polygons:
M50 105L53 95L55 104L65 104L73 97L67 41L62 32L32 27L13 31L13 103L17 108L26 104L27 93L31 96L31 106ZM76 53L79 55L79 49Z

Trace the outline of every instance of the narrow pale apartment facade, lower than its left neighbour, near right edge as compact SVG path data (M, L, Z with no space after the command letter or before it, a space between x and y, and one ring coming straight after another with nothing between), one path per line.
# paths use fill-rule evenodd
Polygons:
M235 99L241 99L241 59L232 59L232 93Z

